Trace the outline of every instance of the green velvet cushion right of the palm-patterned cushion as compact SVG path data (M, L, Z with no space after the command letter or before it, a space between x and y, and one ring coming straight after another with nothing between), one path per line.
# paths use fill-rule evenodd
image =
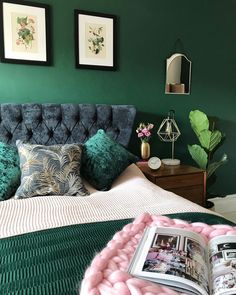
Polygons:
M81 172L97 190L107 191L113 181L138 158L100 129L85 144Z

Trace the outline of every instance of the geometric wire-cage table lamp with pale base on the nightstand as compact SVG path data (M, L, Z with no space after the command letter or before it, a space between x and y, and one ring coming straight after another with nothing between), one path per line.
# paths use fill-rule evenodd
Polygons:
M175 111L170 110L168 116L164 119L157 131L157 134L161 141L171 142L172 157L171 159L162 159L162 163L165 165L179 165L180 160L174 159L174 143L180 136L179 128L174 119Z

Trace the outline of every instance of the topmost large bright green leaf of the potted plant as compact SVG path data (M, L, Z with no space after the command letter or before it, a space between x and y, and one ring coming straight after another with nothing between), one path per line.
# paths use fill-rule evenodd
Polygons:
M193 128L193 131L197 135L197 137L200 136L200 133L203 130L209 129L209 120L207 118L207 115L199 110L194 110L189 113L189 120L190 124Z

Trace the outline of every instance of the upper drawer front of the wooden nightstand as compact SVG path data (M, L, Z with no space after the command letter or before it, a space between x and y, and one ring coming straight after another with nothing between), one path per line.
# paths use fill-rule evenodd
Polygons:
M160 187L170 190L172 188L178 187L188 187L193 185L204 184L204 174L194 173L188 175L177 175L177 176L166 176L166 177L156 177L155 183Z

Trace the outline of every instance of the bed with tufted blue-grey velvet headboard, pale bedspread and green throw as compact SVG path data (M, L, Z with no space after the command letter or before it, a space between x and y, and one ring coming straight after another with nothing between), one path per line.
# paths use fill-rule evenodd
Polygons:
M127 148L135 115L131 105L2 104L0 141L12 146L17 140L45 146L86 144L104 130L118 146ZM94 255L144 212L232 225L152 184L134 162L106 191L83 179L90 195L0 202L0 294L79 294Z

